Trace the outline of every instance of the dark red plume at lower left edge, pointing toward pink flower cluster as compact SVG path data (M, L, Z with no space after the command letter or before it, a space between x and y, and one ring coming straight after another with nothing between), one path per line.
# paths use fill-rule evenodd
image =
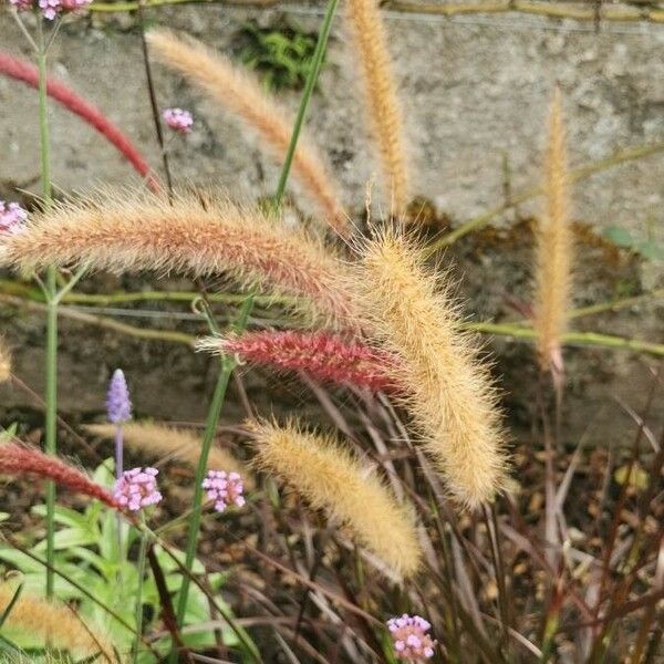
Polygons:
M113 509L122 509L104 487L89 479L76 468L18 443L0 445L0 474L37 475L52 479L59 486L96 498Z

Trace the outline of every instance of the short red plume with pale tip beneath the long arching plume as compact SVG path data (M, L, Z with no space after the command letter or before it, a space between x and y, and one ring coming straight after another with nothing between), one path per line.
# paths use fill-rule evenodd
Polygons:
M219 350L258 364L304 371L320 381L372 392L396 391L392 377L395 357L326 332L249 332L219 340Z

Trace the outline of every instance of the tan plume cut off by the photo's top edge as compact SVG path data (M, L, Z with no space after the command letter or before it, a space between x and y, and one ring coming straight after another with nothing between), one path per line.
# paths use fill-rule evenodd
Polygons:
M349 0L346 12L362 69L365 104L380 151L385 189L391 196L392 211L401 215L409 203L405 139L378 1Z

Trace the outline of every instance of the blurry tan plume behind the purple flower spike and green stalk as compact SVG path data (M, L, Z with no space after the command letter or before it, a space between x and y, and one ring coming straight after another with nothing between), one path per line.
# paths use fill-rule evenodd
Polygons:
M100 438L115 436L114 424L89 424L83 427L89 434ZM200 438L193 432L153 422L126 422L122 425L125 445L152 455L153 457L173 457L196 467L200 457ZM239 473L247 488L253 487L253 478L247 467L228 452L212 445L208 457L208 467L214 470Z

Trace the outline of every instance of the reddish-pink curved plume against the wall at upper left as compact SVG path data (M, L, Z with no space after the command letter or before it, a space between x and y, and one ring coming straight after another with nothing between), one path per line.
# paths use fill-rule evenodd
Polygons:
M0 73L17 81L22 81L32 87L39 86L39 73L37 69L8 53L0 52ZM136 172L147 179L148 187L153 191L158 190L157 180L151 174L151 168L143 155L101 111L56 81L46 82L46 92L49 96L60 102L72 113L75 113L110 141L125 156Z

